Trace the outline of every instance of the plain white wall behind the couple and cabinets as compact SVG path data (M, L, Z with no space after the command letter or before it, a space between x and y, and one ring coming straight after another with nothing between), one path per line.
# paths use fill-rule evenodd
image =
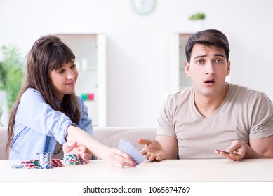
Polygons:
M232 82L273 99L272 8L271 0L157 0L143 16L130 0L0 0L0 45L26 54L44 34L106 34L108 125L155 127L168 93L168 37L192 31L187 17L197 11L231 38Z

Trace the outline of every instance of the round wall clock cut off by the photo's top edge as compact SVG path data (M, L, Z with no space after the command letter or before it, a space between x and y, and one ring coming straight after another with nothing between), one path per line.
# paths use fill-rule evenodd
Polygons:
M131 5L136 13L146 15L154 10L156 0L131 0Z

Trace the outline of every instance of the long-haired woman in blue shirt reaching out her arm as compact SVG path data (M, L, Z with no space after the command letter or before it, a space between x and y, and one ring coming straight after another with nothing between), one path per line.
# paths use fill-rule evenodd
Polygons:
M130 155L93 138L87 107L74 94L77 77L75 56L60 38L42 36L34 43L27 59L25 85L9 118L6 155L9 153L10 160L35 158L41 152L53 155L61 150L56 147L60 143L89 159L98 157L115 167L135 167Z

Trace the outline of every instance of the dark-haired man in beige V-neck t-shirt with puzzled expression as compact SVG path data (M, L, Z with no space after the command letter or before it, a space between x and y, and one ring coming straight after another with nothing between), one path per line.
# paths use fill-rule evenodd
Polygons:
M185 71L193 86L169 95L156 139L142 154L149 160L273 158L273 104L262 92L225 82L230 72L225 34L193 34L185 47Z

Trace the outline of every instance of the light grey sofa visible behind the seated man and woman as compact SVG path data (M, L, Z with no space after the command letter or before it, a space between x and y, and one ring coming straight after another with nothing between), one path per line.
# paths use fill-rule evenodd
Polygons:
M93 127L95 139L109 147L118 147L119 139L129 141L138 151L144 147L137 143L138 138L155 138L155 128L143 127ZM0 160L6 160L5 145L6 145L7 129L0 127ZM56 158L62 158L62 154Z

